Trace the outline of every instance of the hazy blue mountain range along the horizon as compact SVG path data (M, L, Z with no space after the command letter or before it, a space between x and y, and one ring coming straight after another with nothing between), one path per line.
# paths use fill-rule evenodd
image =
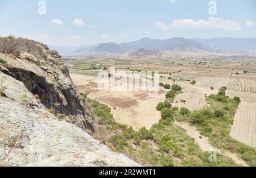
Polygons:
M166 40L142 38L129 43L102 43L77 48L50 47L61 55L123 55L138 50L168 51L171 53L256 55L256 38L212 38L186 39L171 38ZM58 50L59 49L59 50ZM145 52L144 51L144 52ZM143 52L143 53L144 53Z

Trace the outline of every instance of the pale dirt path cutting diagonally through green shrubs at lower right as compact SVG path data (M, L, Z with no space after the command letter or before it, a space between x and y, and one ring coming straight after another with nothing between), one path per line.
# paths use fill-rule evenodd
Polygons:
M213 151L216 150L217 152L231 158L236 164L243 165L245 167L248 166L241 158L239 158L236 154L233 154L232 152L226 151L226 150L220 150L218 148L213 147L210 143L207 137L201 135L199 131L196 130L196 127L190 126L188 123L181 123L175 121L175 125L182 127L187 131L188 136L191 136L195 139L195 142L199 144L199 147L203 151ZM202 138L200 138L201 136Z

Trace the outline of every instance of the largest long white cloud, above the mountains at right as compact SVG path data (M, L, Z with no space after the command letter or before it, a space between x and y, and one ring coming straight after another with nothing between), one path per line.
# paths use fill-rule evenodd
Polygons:
M222 29L224 31L239 31L241 30L240 23L234 20L223 20L222 18L209 17L208 20L193 20L193 19L179 19L173 20L171 27L175 28L210 28Z

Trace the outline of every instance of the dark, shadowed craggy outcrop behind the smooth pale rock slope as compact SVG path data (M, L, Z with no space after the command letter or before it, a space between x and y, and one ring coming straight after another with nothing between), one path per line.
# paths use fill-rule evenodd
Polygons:
M18 39L16 43L18 55L0 53L0 71L22 81L28 91L59 118L93 132L92 114L84 109L58 53L26 39Z

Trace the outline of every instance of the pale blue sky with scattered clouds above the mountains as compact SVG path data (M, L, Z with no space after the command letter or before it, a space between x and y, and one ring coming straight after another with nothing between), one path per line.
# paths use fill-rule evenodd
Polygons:
M0 35L75 47L153 39L256 38L256 1L216 0L0 0Z

